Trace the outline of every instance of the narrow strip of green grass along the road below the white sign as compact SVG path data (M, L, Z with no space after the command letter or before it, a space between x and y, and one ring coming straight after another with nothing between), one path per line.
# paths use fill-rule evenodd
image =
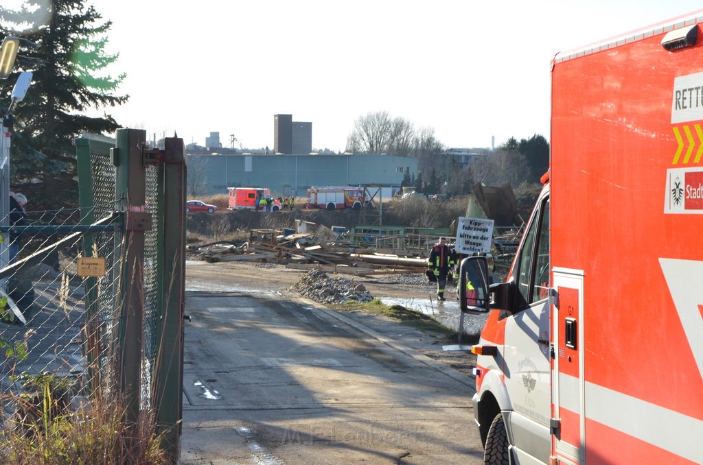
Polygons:
M388 317L401 322L403 325L419 329L423 332L430 332L434 334L434 336L440 339L446 339L447 341L450 339L456 341L458 335L456 331L442 325L430 315L425 315L425 313L419 312L418 310L405 308L401 305L387 306L385 303L382 303L380 299L373 299L373 301L370 302L340 303L330 306L330 308L343 312L359 312L366 313L367 315Z

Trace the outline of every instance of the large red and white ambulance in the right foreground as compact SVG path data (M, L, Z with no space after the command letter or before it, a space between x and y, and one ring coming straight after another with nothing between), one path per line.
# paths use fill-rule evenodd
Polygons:
M550 168L489 313L484 463L703 461L703 11L559 53Z

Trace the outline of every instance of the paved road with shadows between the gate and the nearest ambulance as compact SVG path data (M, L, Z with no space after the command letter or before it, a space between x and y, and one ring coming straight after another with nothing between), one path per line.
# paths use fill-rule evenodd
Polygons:
M182 464L482 463L474 381L384 332L244 292L186 313Z

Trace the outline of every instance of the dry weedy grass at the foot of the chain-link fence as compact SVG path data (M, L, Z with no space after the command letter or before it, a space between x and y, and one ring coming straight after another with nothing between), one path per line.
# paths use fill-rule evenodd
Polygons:
M53 374L20 375L24 391L0 396L0 463L89 465L170 463L153 415L124 421L120 394L77 402L71 381Z

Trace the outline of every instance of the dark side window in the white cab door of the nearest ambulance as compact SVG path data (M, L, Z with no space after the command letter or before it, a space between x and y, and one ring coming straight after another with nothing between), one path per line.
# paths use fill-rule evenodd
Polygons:
M520 309L546 299L549 282L549 199L545 199L525 232L517 261L516 284Z

